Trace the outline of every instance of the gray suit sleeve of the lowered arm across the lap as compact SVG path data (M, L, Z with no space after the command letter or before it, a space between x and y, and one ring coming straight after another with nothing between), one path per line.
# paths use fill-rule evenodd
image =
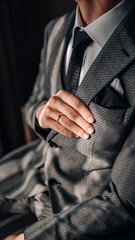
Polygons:
M25 240L106 239L135 223L135 125L131 129L102 196L35 223Z

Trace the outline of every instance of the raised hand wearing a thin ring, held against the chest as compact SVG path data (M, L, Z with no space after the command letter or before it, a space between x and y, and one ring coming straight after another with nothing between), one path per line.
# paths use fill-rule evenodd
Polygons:
M57 117L60 118L57 120ZM60 90L36 112L39 126L51 128L64 136L88 139L94 133L94 117L84 103L65 90Z

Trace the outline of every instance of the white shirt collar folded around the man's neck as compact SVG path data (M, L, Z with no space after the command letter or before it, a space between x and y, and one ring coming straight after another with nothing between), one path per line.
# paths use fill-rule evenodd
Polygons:
M113 9L86 27L83 27L79 7L77 6L74 29L79 26L82 30L86 31L87 34L93 39L93 41L102 48L114 30L117 28L119 23L131 10L132 5L132 0L123 0Z

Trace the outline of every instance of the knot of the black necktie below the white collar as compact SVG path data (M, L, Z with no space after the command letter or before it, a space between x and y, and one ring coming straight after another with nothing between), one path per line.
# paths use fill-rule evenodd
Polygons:
M89 35L85 31L80 31L79 27L75 28L74 31L74 41L73 41L73 49L85 50L88 45L90 45L93 40L89 37Z

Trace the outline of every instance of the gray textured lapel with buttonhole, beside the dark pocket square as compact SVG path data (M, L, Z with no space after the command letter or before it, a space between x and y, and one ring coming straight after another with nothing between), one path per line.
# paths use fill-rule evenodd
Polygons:
M117 27L78 87L76 96L86 105L135 60L134 13L135 9Z

